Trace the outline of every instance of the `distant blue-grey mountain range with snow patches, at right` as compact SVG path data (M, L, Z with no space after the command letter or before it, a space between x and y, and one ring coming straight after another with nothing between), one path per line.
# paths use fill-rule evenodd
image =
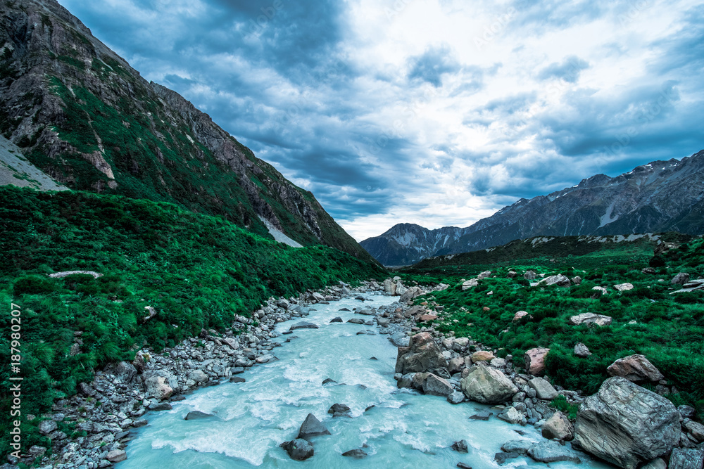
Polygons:
M513 205L466 228L398 224L360 244L387 266L470 252L534 236L606 236L679 231L704 233L704 150L682 160L654 161L610 177Z

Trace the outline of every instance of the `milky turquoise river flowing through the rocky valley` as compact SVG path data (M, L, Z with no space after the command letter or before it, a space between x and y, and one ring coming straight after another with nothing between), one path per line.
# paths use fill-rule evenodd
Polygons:
M171 411L150 413L149 425L134 430L127 445L127 460L118 469L206 469L206 468L455 468L463 462L474 469L548 468L530 458L513 459L504 465L494 454L510 439L541 441L532 426L510 425L496 417L470 420L489 406L464 402L449 404L444 397L422 396L398 390L394 380L396 347L388 335L357 335L376 326L332 323L355 315L341 308L370 308L390 304L398 298L365 295L370 301L345 299L315 304L303 320L319 329L295 330L282 335L273 353L279 360L258 365L239 376L246 383L206 387L173 404ZM277 325L283 332L301 319ZM377 360L371 359L372 356ZM332 378L340 385L322 385ZM332 404L351 407L352 418L336 417L327 410ZM365 411L370 406L372 409ZM184 420L189 411L202 411L218 419ZM332 435L313 439L315 455L293 461L279 444L294 439L308 413L322 420ZM494 412L496 415L496 412ZM519 435L516 430L524 432ZM468 454L450 449L466 439ZM363 447L365 446L365 447ZM341 456L363 448L363 459ZM551 463L549 468L607 468L579 453L582 464Z

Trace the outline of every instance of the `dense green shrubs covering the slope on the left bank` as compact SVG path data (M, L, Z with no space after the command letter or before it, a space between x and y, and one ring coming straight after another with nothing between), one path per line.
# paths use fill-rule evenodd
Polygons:
M48 411L94 368L132 359L145 344L160 351L201 328L222 330L272 295L386 274L339 250L294 249L222 217L115 195L0 187L0 232L2 330L10 330L11 303L22 311L23 415ZM47 276L71 270L103 276ZM144 321L148 306L157 314ZM72 354L75 333L82 345ZM0 336L4 364L9 339ZM6 367L0 382L9 428ZM37 424L23 423L23 447L46 446Z

